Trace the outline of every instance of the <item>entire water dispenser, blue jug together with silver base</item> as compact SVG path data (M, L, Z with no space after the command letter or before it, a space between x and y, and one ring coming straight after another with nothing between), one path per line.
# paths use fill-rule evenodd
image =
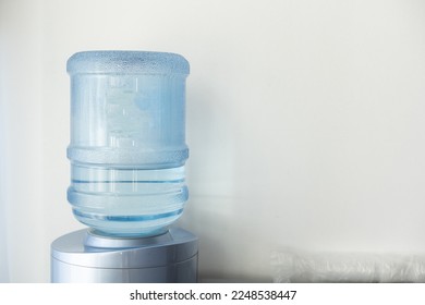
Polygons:
M51 245L52 282L195 282L197 237L174 228L187 200L181 56L86 51L71 77L74 217Z

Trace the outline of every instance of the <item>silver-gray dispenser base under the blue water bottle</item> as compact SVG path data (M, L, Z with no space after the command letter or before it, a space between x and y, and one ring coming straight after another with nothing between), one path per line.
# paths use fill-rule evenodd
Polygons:
M197 237L170 229L119 239L80 230L51 244L53 283L182 283L197 281Z

